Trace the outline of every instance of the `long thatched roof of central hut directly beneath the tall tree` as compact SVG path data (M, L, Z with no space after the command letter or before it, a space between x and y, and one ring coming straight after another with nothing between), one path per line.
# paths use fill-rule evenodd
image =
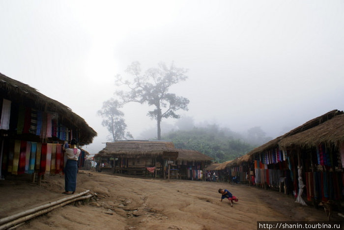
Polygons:
M164 152L177 152L172 142L165 141L116 141L107 142L96 156L140 157L157 156Z

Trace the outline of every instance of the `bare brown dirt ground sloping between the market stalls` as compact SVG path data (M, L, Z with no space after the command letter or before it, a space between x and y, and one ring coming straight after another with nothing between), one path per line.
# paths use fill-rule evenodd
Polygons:
M28 179L0 181L0 218L64 198L64 178L46 177L41 186ZM218 189L239 202L220 202ZM89 203L69 204L36 217L19 230L255 230L257 221L325 221L323 209L301 206L277 191L247 184L132 178L80 171L77 192L89 189ZM337 213L334 221L343 221Z

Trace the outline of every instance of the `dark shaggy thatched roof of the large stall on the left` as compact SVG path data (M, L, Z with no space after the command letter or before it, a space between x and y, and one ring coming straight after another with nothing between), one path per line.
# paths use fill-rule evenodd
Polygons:
M90 144L96 131L86 121L72 112L66 105L39 93L36 89L0 73L0 97L13 103L24 104L44 112L57 113L59 121L66 127L78 130L81 145Z

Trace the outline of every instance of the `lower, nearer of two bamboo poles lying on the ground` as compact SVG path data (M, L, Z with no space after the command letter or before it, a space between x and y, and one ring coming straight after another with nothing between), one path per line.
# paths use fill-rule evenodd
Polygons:
M13 221L7 222L7 223L4 224L4 225L1 225L1 226L0 226L0 230L8 229L8 228L10 228L10 227L12 227L12 226L14 226L14 225L17 225L17 224L19 224L19 223L28 221L29 219L32 219L32 218L34 218L34 217L36 217L36 216L39 216L39 215L45 214L45 213L47 213L47 212L50 212L50 211L52 211L52 210L54 210L54 209L56 209L56 208L58 208L58 207L62 207L62 206L64 206L64 205L66 205L66 204L70 204L70 203L75 202L75 201L85 200L85 199L88 199L88 198L91 198L91 197L92 197L91 194L88 195L88 196L76 197L76 198L74 198L74 199L72 199L72 200L68 200L68 201L63 202L63 203L61 203L61 204L57 204L57 205L48 207L48 208L46 208L46 209L39 210L39 211L34 212L34 213L32 213L32 214L29 214L29 215L27 215L27 216L20 217L20 218L18 218L18 219L16 219L16 220L13 220Z

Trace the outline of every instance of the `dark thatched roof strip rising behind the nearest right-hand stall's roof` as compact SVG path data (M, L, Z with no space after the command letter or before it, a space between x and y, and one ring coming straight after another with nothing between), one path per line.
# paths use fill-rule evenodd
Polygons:
M328 120L331 120L335 116L338 116L338 115L343 114L343 113L344 113L343 111L340 111L338 109L329 111L329 112L327 112L327 113L325 113L319 117L316 117L316 118L304 123L303 125L301 125L297 128L290 130L286 134L279 136L279 137L255 148L255 149L253 149L251 152L247 153L247 155L251 156L251 155L254 155L256 153L262 153L266 150L277 148L279 146L279 143L281 142L281 140L283 140L284 138L287 138L289 136L293 136L297 133L301 133L301 132L304 132L304 131L309 130L311 128L314 128L316 126L319 126L320 124L322 124ZM249 159L250 159L250 157L245 158L245 160L249 160Z

